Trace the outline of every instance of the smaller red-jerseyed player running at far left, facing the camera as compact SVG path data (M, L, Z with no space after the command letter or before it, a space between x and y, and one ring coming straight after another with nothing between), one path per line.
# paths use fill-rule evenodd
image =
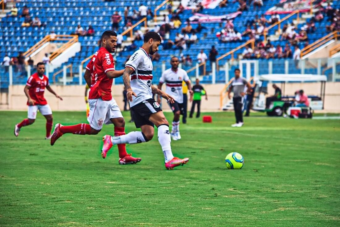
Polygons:
M28 118L21 121L19 124L15 125L14 135L16 137L19 136L19 131L22 127L33 124L36 117L37 111L44 115L46 118L46 137L45 139L51 138L51 130L53 125L52 118L52 110L51 107L47 104L47 101L44 97L45 89L55 95L60 100L63 100L62 97L57 95L52 88L50 87L50 83L48 78L44 75L45 73L45 64L43 62L39 62L37 64L37 72L34 73L27 80L27 84L24 88L24 92L28 98Z

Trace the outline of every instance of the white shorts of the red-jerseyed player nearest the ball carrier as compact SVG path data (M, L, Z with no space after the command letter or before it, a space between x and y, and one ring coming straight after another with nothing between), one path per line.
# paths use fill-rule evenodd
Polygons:
M116 100L103 101L102 99L89 99L90 113L87 121L90 123L91 128L101 130L103 124L112 124L111 118L122 118Z

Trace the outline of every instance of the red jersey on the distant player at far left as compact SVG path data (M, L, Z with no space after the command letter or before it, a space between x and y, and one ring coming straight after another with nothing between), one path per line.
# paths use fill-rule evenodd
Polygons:
M26 85L30 86L28 92L30 94L31 99L35 100L34 105L47 104L47 101L44 97L44 93L45 88L47 86L50 86L50 83L45 75L39 77L37 73L34 73L32 76L30 76L30 78L28 78ZM29 105L28 102L27 105Z

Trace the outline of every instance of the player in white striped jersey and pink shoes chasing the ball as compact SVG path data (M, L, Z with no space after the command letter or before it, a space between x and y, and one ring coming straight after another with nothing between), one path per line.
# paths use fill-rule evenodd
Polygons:
M165 167L173 169L176 166L184 165L189 158L174 157L171 151L171 136L169 122L164 116L160 105L152 99L152 93L162 96L170 103L174 103L173 97L152 86L152 61L149 55L155 54L160 45L161 39L156 32L148 32L144 36L144 43L125 64L123 81L127 91L126 96L130 101L134 121L141 132L130 132L121 136L103 137L104 145L102 152L107 152L113 145L121 143L141 143L152 139L154 125L158 128L158 141L162 146Z

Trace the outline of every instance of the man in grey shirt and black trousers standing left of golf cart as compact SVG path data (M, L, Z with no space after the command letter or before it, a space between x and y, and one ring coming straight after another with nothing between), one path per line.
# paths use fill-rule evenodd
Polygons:
M242 115L242 106L243 106L243 96L245 95L244 86L247 86L247 92L250 92L251 85L245 78L240 77L240 70L235 69L235 78L232 84L229 86L228 97L231 99L230 93L233 91L233 103L235 110L236 123L232 124L232 127L242 127L243 125L243 115Z

